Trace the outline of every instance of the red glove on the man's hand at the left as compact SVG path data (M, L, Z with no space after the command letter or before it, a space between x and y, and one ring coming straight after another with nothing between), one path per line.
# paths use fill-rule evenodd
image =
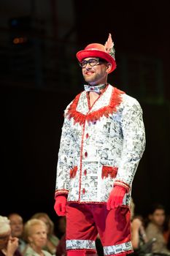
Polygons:
M54 209L58 216L66 215L66 195L58 195L55 198Z

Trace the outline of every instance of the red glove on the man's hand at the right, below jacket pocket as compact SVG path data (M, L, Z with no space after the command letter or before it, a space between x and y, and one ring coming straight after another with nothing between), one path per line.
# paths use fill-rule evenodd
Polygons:
M125 192L126 189L124 187L115 186L110 192L109 199L107 200L107 210L122 206Z

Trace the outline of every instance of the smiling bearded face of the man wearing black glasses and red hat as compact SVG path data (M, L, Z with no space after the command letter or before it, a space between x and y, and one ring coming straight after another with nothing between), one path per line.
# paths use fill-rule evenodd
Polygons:
M85 58L82 60L83 61L91 61L91 65L93 63L95 64L96 60L96 65L93 67L87 63L85 67L82 67L82 75L87 83L90 83L90 85L98 85L102 83L107 83L107 70L108 67L111 67L111 64L108 64L107 62L104 61L98 61L98 58Z

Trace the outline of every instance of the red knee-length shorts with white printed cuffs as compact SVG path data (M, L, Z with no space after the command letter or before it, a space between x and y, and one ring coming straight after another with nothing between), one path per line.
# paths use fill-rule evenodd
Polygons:
M66 249L96 250L99 233L104 255L133 252L131 214L128 207L107 210L106 204L68 203L66 206Z

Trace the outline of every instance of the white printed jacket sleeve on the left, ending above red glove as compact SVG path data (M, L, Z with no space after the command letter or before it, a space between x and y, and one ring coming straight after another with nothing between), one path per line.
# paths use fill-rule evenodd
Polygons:
M72 169L73 160L73 138L70 124L71 121L66 116L65 110L65 118L63 121L63 127L61 132L60 148L58 151L55 197L57 195L67 195L69 193L70 170Z

